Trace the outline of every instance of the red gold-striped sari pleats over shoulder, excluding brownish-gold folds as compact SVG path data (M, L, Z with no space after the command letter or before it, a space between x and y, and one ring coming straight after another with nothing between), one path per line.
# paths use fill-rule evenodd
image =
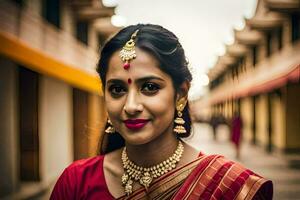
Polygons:
M222 156L205 156L173 199L272 199L273 185Z

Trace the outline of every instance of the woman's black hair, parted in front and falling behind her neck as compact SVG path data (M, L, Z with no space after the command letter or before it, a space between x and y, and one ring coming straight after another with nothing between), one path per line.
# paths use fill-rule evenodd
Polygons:
M97 67L103 91L105 90L106 73L110 58L114 52L120 50L125 45L136 30L139 31L135 38L135 46L150 53L158 60L160 69L171 77L175 91L179 91L180 86L184 82L191 82L192 75L188 69L188 61L178 38L162 26L137 24L120 30L103 46ZM176 112L175 109L174 112ZM174 116L176 115L174 114ZM178 135L178 137L188 137L191 132L191 117L188 104L183 110L183 119L187 132ZM108 124L105 128L107 126ZM125 141L119 133L104 133L101 139L100 153L105 154L124 145Z

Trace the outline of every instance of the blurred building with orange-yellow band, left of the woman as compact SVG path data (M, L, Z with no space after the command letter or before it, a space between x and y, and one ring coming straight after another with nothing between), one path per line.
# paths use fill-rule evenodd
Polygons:
M113 14L98 0L0 1L0 199L31 198L97 154Z

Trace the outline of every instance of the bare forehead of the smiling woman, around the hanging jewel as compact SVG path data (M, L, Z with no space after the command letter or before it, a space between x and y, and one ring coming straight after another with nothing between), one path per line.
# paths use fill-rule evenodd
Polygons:
M123 68L124 62L119 56L120 51L116 51L109 63L106 80L114 79L138 79L146 76L158 76L165 80L171 80L171 77L159 68L158 60L151 54L139 48L135 48L136 58L130 61L130 68Z

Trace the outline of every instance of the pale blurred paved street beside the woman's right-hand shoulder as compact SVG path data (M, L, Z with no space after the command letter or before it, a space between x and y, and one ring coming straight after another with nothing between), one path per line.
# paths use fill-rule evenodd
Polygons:
M194 124L194 136L188 142L206 154L222 154L241 162L247 168L271 179L274 184L274 199L300 199L300 155L267 153L263 148L242 144L241 158L235 159L235 151L229 142L229 130L220 126L217 140L207 124Z

